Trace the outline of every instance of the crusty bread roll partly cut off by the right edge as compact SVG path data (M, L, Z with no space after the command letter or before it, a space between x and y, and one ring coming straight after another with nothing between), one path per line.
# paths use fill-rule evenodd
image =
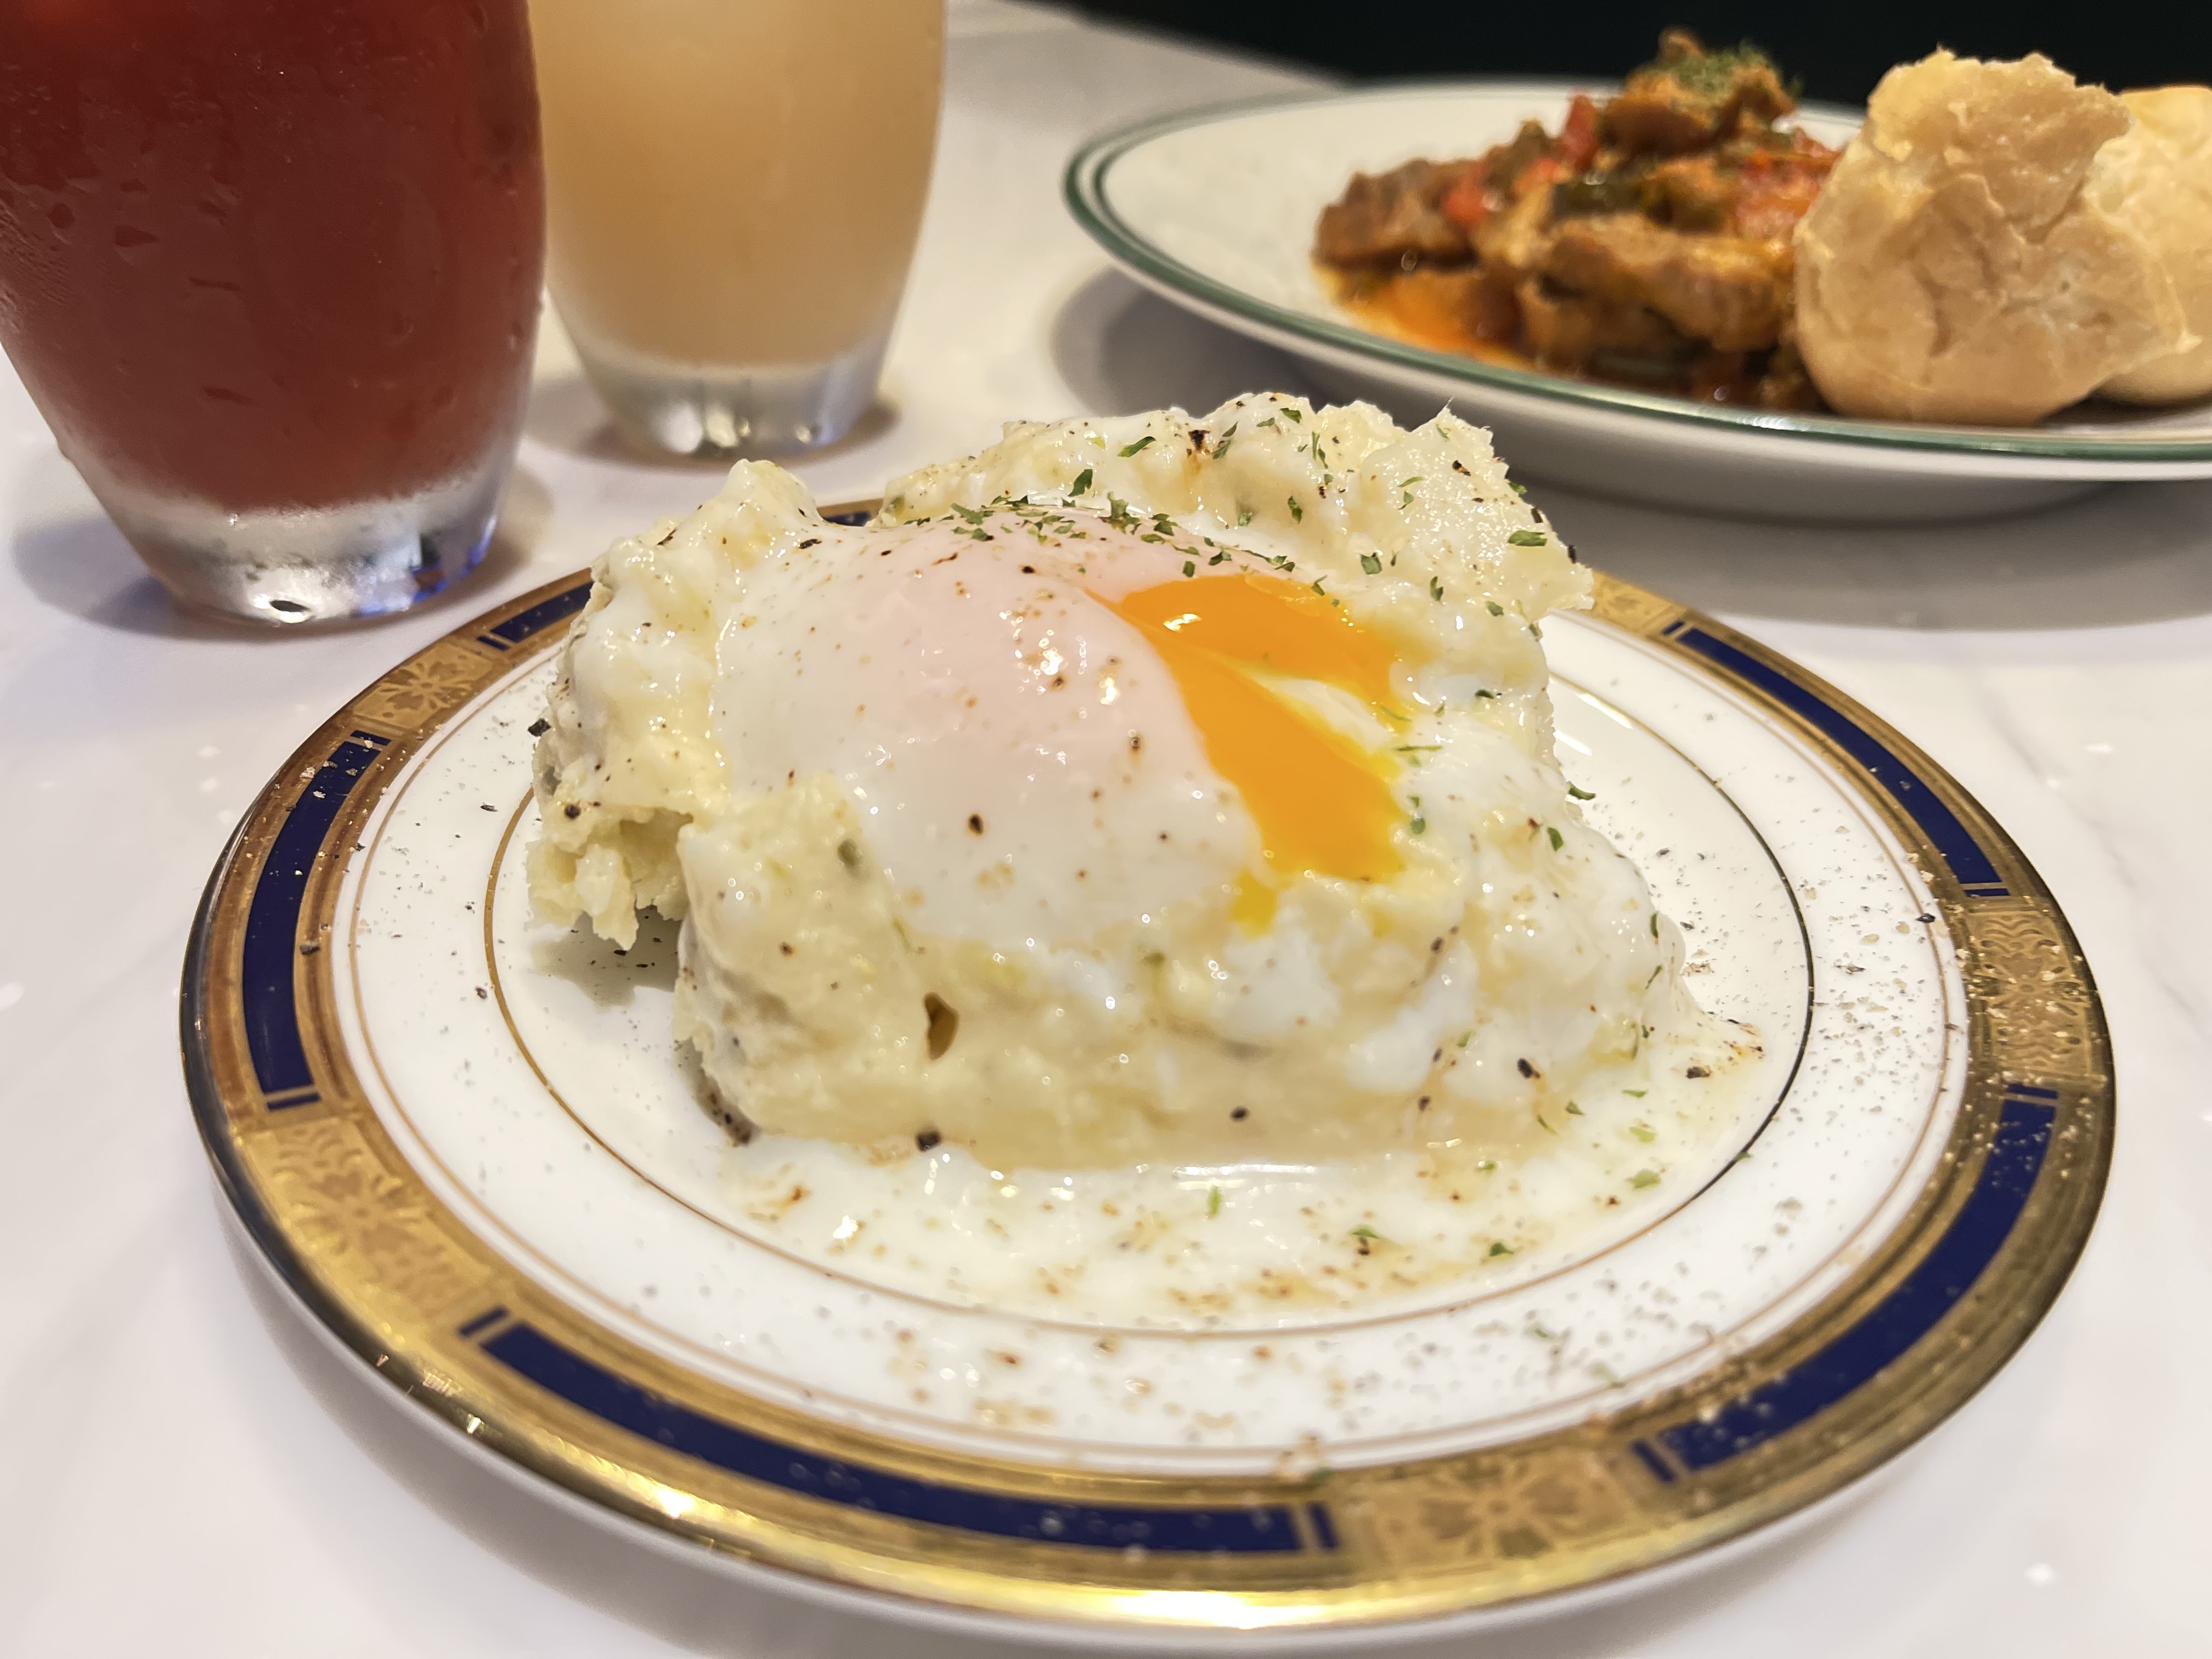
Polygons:
M2212 86L2121 93L2135 126L2097 150L2090 195L2150 243L2194 345L2104 383L2108 398L2174 403L2212 392Z

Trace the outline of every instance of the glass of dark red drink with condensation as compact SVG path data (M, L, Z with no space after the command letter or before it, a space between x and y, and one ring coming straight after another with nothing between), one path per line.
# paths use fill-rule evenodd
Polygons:
M542 263L524 0L0 0L0 343L188 604L473 566Z

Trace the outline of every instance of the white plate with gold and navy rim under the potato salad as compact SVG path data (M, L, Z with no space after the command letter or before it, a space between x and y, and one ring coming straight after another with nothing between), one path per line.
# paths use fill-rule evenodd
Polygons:
M615 1524L1093 1646L1528 1617L1913 1444L2088 1237L2110 1053L2020 852L1812 675L1599 577L1546 624L1562 759L1765 1048L1641 1210L1427 1301L1113 1327L792 1250L675 1057L666 929L617 960L522 902L524 728L588 591L299 750L208 885L184 1064L299 1301Z

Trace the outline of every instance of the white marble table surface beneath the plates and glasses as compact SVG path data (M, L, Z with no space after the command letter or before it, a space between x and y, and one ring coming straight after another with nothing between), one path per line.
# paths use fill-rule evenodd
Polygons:
M1303 389L1110 274L1057 201L1097 128L1294 84L958 0L885 400L799 467L816 495L874 493L1006 416ZM0 1650L973 1650L668 1559L456 1458L263 1290L186 1110L186 927L292 745L434 635L712 487L624 456L549 325L491 566L400 622L241 633L166 602L0 374ZM2006 823L2101 984L2119 1157L2051 1321L1858 1502L1688 1586L1418 1652L2212 1652L2212 484L1936 529L1537 498L1593 562L1827 675Z

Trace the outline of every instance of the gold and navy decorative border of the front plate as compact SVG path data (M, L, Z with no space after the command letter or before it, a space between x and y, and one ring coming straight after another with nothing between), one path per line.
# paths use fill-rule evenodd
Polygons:
M1044 1469L710 1383L522 1279L431 1197L363 1097L321 951L385 783L453 710L566 637L584 580L418 653L279 772L192 929L184 1066L217 1177L301 1301L462 1433L611 1511L816 1579L1033 1619L1197 1630L1442 1617L1692 1555L1865 1475L2011 1358L2088 1239L2112 1146L2110 1046L2088 967L2017 847L1927 754L1816 677L1599 577L1599 622L1694 664L1858 785L1958 942L1969 1079L1949 1157L1845 1285L1756 1349L1615 1416L1312 1480ZM334 759L358 776L334 774ZM327 812L332 792L343 799ZM310 801L330 818L312 860L283 843L292 863L272 865ZM1931 814L1986 856L1973 880L1929 834ZM254 911L265 874L299 883L279 945L310 1077L274 1093L254 1064L268 1031L250 1031L250 1002L265 1006L276 973L272 922ZM1971 1287L1931 1303L1962 1250L1986 1256ZM1900 1318L1920 1321L1916 1340L1885 1360ZM1849 1365L1871 1369L1854 1383ZM1803 1411L1823 1387L1834 1398ZM759 1447L781 1462L763 1464Z

